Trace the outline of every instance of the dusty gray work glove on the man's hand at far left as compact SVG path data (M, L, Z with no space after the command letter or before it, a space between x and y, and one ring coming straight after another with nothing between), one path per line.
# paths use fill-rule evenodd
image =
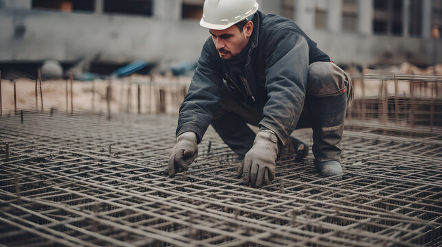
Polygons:
M197 135L195 132L188 131L177 137L177 144L170 152L168 163L168 175L173 178L179 170L187 171L190 165L198 155Z

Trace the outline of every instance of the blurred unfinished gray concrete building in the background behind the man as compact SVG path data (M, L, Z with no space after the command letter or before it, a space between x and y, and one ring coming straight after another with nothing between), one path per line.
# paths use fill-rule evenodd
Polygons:
M0 62L196 61L203 0L1 0ZM339 64L442 62L440 0L261 0ZM434 31L434 32L432 32ZM432 33L433 36L432 37ZM177 43L179 40L179 43Z

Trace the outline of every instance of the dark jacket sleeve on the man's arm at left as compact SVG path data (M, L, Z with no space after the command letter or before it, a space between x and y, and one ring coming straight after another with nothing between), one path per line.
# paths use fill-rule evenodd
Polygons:
M210 125L222 95L221 59L213 46L209 38L203 46L188 93L179 108L177 136L193 131L197 134L198 143Z

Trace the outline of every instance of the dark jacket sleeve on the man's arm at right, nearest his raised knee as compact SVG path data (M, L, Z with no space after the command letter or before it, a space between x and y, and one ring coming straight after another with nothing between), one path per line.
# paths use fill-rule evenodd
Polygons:
M273 130L281 144L296 128L304 106L309 70L309 47L294 30L279 31L265 40L267 102L261 128Z

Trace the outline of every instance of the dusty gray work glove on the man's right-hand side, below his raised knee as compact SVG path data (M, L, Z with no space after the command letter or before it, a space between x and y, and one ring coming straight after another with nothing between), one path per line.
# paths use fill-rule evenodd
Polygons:
M272 130L261 130L256 134L253 147L245 154L238 176L243 184L252 187L269 185L275 178L276 157L278 156L278 137Z

